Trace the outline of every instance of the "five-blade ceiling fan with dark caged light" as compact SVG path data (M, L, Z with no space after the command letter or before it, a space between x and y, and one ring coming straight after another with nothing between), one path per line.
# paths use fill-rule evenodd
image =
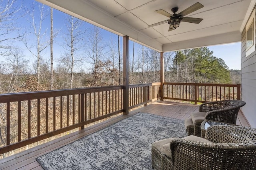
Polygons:
M156 10L155 12L162 14L164 16L167 16L170 19L164 20L164 21L161 21L158 23L154 23L152 25L148 25L148 27L154 27L156 25L160 25L162 23L167 22L170 25L168 31L172 31L180 26L181 21L190 22L190 23L200 23L203 20L202 18L191 18L191 17L184 17L184 16L186 16L196 10L199 10L200 8L203 8L203 7L204 6L202 4L200 4L199 2L196 2L194 5L188 7L187 9L183 10L179 14L176 14L176 12L179 9L178 7L172 8L172 12L174 14L170 14L169 12L166 12L165 10Z

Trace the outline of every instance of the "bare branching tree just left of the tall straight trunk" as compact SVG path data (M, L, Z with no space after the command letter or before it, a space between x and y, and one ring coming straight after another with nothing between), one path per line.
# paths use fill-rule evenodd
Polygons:
M40 61L43 51L46 49L46 47L49 46L49 39L47 38L47 28L43 30L42 25L44 20L46 19L46 16L48 14L49 8L46 10L44 9L44 4L38 3L38 14L35 10L35 3L32 8L32 12L30 13L30 17L32 19L32 34L36 36L36 43L31 42L29 43L27 39L25 39L24 44L28 51L36 57L37 59L37 82L40 83ZM33 49L36 50L33 50Z

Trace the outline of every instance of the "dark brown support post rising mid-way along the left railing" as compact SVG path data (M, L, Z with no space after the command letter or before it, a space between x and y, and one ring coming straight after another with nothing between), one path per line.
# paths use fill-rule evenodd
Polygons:
M123 37L123 109L124 115L129 114L129 37Z

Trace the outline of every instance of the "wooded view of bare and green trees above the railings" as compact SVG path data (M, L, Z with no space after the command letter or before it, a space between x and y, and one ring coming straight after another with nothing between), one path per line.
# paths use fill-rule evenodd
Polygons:
M111 34L106 39L103 29L86 27L85 21L64 13L61 29L54 29L54 12L59 11L22 2L1 1L0 93L121 84L122 37ZM61 53L56 53L56 43ZM160 54L130 44L130 84L159 82ZM207 47L164 53L164 63L165 82L239 80Z

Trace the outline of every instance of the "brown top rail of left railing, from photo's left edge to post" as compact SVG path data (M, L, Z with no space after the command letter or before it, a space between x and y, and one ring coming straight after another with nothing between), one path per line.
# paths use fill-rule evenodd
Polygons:
M41 98L52 98L52 97L58 97L58 96L86 94L86 93L92 93L92 92L102 92L102 91L120 90L120 89L124 89L124 86L104 86L104 87L92 87L92 88L76 88L76 89L49 90L49 91L40 91L40 92L0 94L0 103L34 100L34 99L41 99Z

